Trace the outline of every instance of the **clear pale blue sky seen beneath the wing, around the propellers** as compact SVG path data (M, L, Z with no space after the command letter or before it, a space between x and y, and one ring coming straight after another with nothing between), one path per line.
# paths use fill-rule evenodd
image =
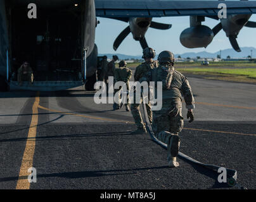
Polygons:
M118 53L129 56L139 56L142 54L141 45L132 38L132 33L129 33L116 52L113 50L113 42L129 23L107 18L98 18L98 20L100 24L96 28L96 44L98 45L100 54ZM184 47L179 41L179 35L184 29L189 27L189 16L153 18L153 21L172 24L172 28L169 30L149 28L148 32L146 32L145 37L148 45L153 47L157 54L162 50L170 50L175 54L182 54L185 52L201 52L205 50L207 52L217 52L219 50L232 48L223 30L214 37L214 40L206 49L188 49ZM250 21L256 21L256 15L253 15ZM219 21L217 20L205 18L202 25L214 28L218 23ZM255 36L256 28L244 27L238 35L238 44L240 44L240 47L256 47Z

